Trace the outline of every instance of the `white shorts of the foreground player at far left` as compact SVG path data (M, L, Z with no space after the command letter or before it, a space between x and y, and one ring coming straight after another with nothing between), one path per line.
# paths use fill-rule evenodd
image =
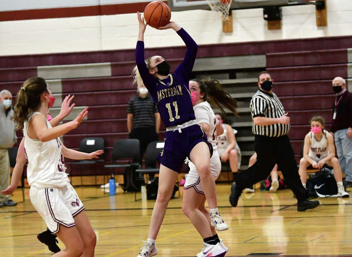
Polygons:
M75 226L73 217L84 209L71 184L58 188L31 187L29 197L53 234L59 232L60 225Z

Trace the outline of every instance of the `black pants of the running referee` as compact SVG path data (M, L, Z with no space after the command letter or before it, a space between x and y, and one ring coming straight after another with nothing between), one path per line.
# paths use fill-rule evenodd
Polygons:
M234 177L236 190L242 192L246 187L266 179L275 164L280 167L285 183L296 195L297 201L308 199L308 193L303 187L297 171L295 153L287 135L281 137L254 137L257 162Z

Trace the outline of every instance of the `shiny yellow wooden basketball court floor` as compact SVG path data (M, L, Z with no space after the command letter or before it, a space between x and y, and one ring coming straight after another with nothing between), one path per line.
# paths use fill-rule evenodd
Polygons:
M133 193L116 196L100 188L77 187L98 242L95 256L136 257L146 240L154 201L134 201ZM347 198L319 199L321 206L297 212L290 190L243 194L239 206L228 202L230 184L217 184L218 205L230 230L219 232L229 251L226 256L352 256L352 202ZM0 256L51 256L36 234L46 229L26 189L18 189L16 207L0 208ZM182 196L182 190L181 190ZM195 256L202 239L181 210L182 199L172 199L157 238L157 256ZM59 242L63 248L63 244Z

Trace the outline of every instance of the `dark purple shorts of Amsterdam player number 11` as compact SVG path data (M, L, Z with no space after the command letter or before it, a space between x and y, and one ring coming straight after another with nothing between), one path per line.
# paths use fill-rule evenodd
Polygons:
M182 133L178 130L166 131L164 150L156 159L165 167L180 173L184 160L186 157L191 159L189 155L192 149L200 142L208 144L211 157L213 146L198 124L182 128Z

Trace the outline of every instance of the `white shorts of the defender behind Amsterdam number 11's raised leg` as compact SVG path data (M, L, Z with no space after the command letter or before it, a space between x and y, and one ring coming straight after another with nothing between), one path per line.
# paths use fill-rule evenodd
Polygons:
M190 171L187 176L186 183L184 183L183 189L194 187L197 193L204 194L203 186L200 182L200 177L195 165L192 162L189 162L188 166ZM212 171L214 180L216 180L219 177L221 171L221 161L218 151L214 151L213 156L210 158L210 170Z

